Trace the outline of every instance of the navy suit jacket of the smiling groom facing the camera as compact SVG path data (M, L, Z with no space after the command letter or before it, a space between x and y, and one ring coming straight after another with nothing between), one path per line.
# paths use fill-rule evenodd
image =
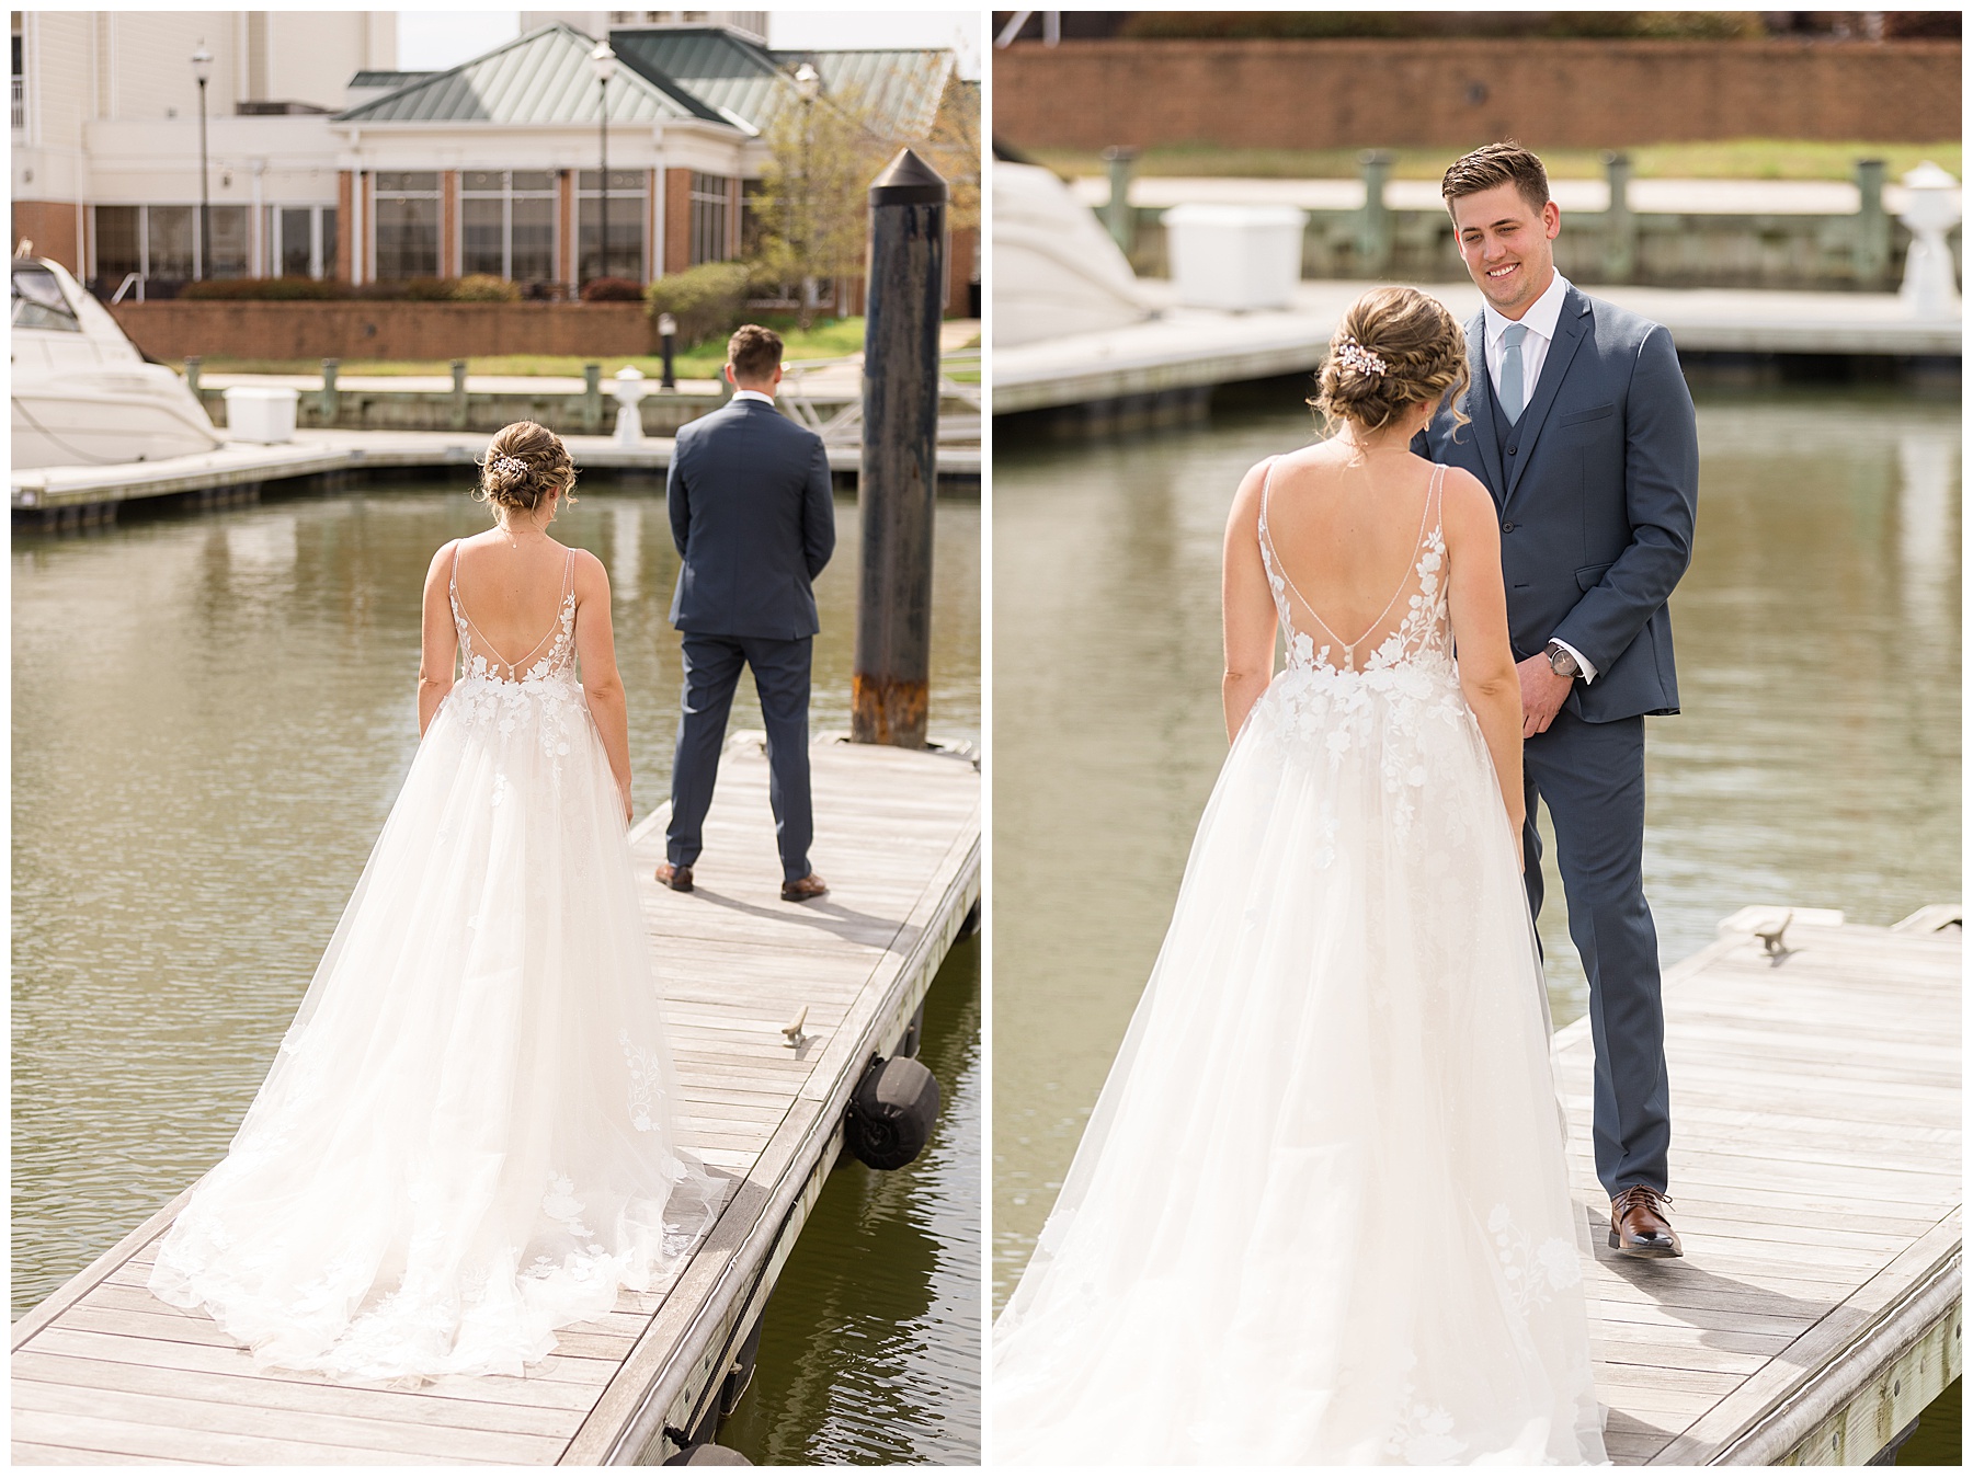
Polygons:
M1440 410L1425 436L1434 461L1494 493L1513 655L1553 639L1580 651L1596 680L1572 682L1565 706L1584 722L1677 712L1665 601L1693 556L1699 436L1671 335L1571 286L1511 428L1486 371L1486 314L1466 341L1472 422Z

